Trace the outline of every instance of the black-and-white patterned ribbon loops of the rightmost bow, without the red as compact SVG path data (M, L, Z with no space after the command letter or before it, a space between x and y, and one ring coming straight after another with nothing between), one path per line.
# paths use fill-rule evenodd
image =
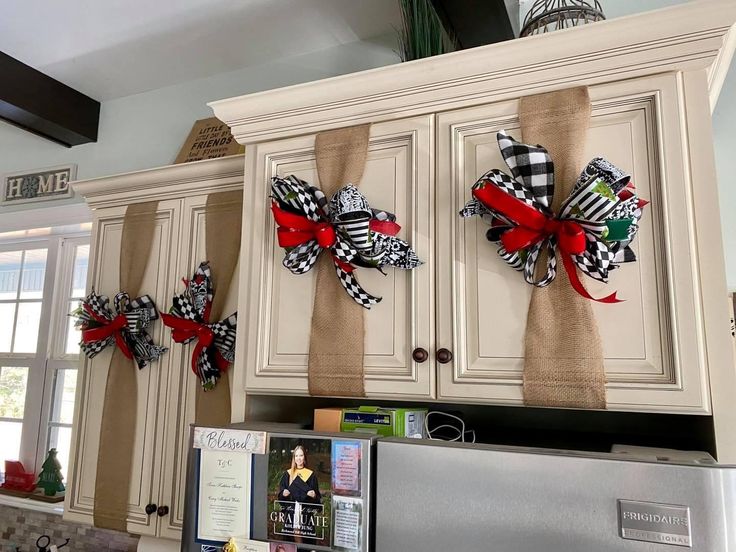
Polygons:
M533 207L550 218L570 220L585 231L585 250L572 255L572 260L583 273L606 282L609 271L621 262L635 260L629 244L634 239L645 201L633 192L629 176L603 158L595 158L585 167L570 196L563 202L557 216L551 211L554 195L554 164L542 146L531 146L514 140L501 131L497 135L501 154L512 174L498 169L485 173L473 185L473 190L495 186L511 197ZM494 211L475 197L460 211L463 217L480 216L490 223L486 236L500 243L502 236L516 224L507 216ZM609 240L612 221L628 224L625 239ZM524 278L538 287L549 285L557 274L557 243L554 235L509 253L501 245L499 256L515 270L523 271ZM544 255L542 255L545 253ZM540 258L546 259L541 275L537 270Z

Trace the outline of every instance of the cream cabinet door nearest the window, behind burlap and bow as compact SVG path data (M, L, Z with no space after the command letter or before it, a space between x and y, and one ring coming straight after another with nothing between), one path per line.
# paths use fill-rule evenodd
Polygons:
M154 300L170 294L171 252L177 248L179 201L162 201L156 215L152 250L145 269L142 293ZM123 229L124 207L101 209L95 217L93 248L91 255L92 277L90 285L98 293L112 298L119 290L120 244ZM157 305L160 308L160 305ZM156 321L151 335L156 343L171 345L164 341L168 332ZM97 476L97 454L100 441L100 423L105 397L107 371L111 348L93 359L84 359L78 387L78 418L75 420L73 457L70 469L70 488L66 498L64 517L92 523ZM158 499L159 472L163 452L161 438L161 412L159 394L162 392L163 375L169 362L168 353L158 362L138 370L138 397L136 401L135 445L129 489L128 531L141 535L155 535L157 516L145 512L146 505Z

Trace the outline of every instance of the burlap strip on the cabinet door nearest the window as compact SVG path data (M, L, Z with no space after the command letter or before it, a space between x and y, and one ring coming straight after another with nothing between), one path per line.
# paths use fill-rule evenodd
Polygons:
M157 201L129 205L120 245L120 290L131 297L141 286L156 228ZM128 500L138 405L138 368L113 348L102 406L100 445L95 479L94 524L127 530Z

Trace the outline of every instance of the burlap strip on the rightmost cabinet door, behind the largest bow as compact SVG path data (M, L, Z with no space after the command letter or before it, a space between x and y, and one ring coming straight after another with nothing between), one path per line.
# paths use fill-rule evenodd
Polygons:
M590 113L585 87L521 100L524 142L542 144L555 165L554 212L570 195L583 166ZM565 271L549 286L534 288L525 347L524 404L606 407L603 346L592 303L575 292Z

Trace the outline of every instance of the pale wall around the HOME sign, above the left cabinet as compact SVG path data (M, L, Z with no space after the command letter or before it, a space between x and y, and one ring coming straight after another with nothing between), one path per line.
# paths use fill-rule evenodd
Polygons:
M393 40L354 42L103 102L100 140L71 149L0 122L0 174L76 163L77 177L86 179L168 165L194 121L212 117L207 102L396 63ZM0 216L8 212L2 209Z

